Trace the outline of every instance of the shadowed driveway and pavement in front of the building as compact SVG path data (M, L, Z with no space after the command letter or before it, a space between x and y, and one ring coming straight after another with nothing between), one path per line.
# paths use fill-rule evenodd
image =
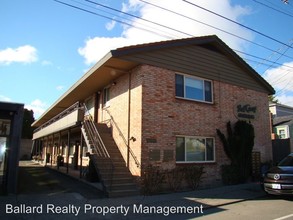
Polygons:
M19 194L0 197L0 219L187 220L223 213L226 205L262 197L266 196L259 185L242 184L153 196L105 198L92 186L27 161L19 167ZM31 211L32 208L35 210Z

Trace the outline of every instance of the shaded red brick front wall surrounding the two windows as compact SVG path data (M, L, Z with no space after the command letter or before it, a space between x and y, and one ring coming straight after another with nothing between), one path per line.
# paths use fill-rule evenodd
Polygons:
M143 167L152 163L164 169L174 168L176 135L214 137L216 162L201 164L206 172L203 185L220 184L220 167L229 163L229 160L216 129L226 133L226 123L231 121L234 124L237 121L234 106L243 100L256 104L260 112L257 119L252 121L255 128L254 150L261 152L262 161L271 159L267 94L213 81L213 104L188 101L175 98L175 72L147 65L137 71L143 76ZM154 154L158 149L160 151ZM173 160L164 161L166 152L173 152Z

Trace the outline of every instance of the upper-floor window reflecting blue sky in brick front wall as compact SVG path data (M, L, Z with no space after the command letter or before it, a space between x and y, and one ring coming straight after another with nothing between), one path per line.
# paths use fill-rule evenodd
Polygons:
M176 97L212 102L212 82L196 77L176 74Z

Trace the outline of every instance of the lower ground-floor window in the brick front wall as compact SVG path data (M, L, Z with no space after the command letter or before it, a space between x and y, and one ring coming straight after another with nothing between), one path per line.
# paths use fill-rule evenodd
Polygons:
M214 138L176 137L176 162L214 162Z

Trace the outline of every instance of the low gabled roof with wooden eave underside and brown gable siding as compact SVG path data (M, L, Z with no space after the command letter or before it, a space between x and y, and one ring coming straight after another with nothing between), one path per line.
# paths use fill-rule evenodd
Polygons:
M205 59L205 57L203 57L207 56L205 51L211 52L209 55L213 56L213 58L211 58L210 61L219 62L217 65L221 65L218 59L221 60L221 62L226 62L225 59L228 58L228 62L238 66L239 70L237 69L236 71L238 75L235 72L237 76L227 76L227 80L231 78L231 83L238 82L239 76L241 76L241 74L243 75L243 72L245 72L250 78L244 86L266 92L267 94L275 93L273 87L269 83L216 35L160 41L111 50L65 92L37 121L35 121L33 126L42 125L75 102L84 100L93 93L103 89L107 84L110 84L117 77L133 69L137 65L149 64L173 69L174 71L190 73L199 66L193 62L196 59L192 56L196 54L198 58ZM181 60L178 61L178 58ZM180 63L181 61L182 63ZM208 67L211 66L211 64L206 65ZM241 69L243 69L243 71L240 71ZM198 70L197 73L200 72L201 71ZM209 77L211 79L218 79L218 73L211 73Z

